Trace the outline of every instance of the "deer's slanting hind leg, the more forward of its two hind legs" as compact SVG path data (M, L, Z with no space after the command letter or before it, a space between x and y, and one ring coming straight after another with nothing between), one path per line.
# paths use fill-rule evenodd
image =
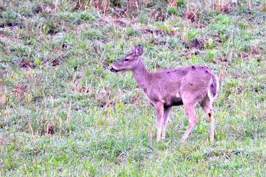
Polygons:
M183 100L184 102L184 100ZM195 110L194 110L195 103L184 103L185 112L188 116L189 125L187 127L187 130L185 131L183 137L181 138L181 142L184 142L186 138L188 137L190 131L192 130L193 126L197 122Z

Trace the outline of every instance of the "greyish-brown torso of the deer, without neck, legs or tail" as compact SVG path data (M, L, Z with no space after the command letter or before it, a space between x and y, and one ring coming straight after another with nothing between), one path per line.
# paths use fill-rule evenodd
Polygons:
M166 105L180 105L179 98L182 97L182 93L187 94L187 97L196 94L198 101L207 94L211 75L211 70L201 65L160 70L153 73L147 88L147 96L152 102L161 101Z

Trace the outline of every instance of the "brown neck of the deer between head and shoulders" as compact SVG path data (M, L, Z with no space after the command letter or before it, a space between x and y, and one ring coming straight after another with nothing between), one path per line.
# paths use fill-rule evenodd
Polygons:
M145 91L151 81L152 72L147 70L141 58L139 59L137 66L132 70L132 73L138 87Z

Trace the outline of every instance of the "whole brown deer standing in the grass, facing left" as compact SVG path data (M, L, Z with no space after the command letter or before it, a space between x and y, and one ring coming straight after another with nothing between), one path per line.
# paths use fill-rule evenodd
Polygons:
M210 121L210 140L214 139L212 101L217 96L218 77L207 66L191 65L150 72L141 59L141 45L131 47L131 53L111 67L112 72L132 71L139 88L157 112L157 141L166 138L166 125L172 106L184 105L188 127L181 142L188 137L197 118L194 106L199 102ZM162 132L163 126L163 132Z

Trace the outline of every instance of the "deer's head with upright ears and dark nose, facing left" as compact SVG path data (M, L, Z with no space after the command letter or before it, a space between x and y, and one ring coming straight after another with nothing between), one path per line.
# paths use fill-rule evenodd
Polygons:
M112 72L131 71L137 66L139 57L143 53L143 49L141 45L137 45L136 47L133 47L130 44L130 47L131 47L131 53L126 55L120 61L114 63L111 67Z

